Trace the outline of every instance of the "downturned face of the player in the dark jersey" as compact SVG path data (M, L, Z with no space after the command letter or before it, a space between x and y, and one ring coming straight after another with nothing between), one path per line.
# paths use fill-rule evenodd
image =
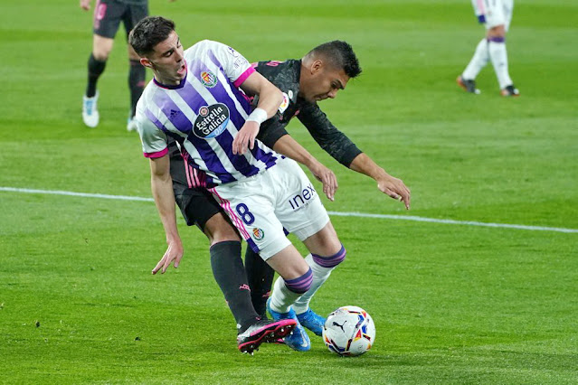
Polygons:
M303 98L310 102L334 99L339 89L346 88L348 80L345 70L323 66L311 75L306 84L300 87L300 91Z

